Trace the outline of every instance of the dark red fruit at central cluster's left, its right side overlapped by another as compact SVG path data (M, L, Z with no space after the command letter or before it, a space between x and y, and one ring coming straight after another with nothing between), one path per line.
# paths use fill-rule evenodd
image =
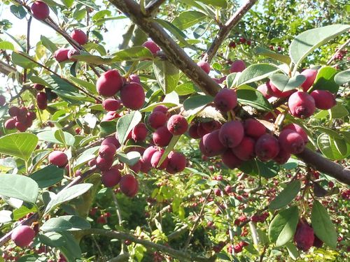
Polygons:
M207 133L200 142L200 150L204 156L214 157L222 154L226 147L223 145L219 138L219 130L215 130L211 133ZM202 148L201 148L202 143Z

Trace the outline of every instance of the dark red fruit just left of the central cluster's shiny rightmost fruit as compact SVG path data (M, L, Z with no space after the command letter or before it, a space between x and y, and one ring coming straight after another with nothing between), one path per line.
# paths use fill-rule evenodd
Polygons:
M279 142L274 136L265 133L255 143L255 154L261 161L269 161L279 154Z

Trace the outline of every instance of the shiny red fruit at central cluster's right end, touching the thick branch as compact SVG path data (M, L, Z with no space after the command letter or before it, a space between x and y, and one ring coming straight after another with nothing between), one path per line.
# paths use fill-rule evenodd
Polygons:
M284 129L279 134L279 146L290 154L300 154L304 151L305 143L299 133L291 129Z

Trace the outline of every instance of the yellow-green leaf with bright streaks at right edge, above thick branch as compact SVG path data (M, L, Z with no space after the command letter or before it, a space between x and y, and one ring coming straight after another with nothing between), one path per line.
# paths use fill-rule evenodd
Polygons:
M328 159L342 160L350 155L350 145L344 139L330 137L327 133L321 133L317 138L318 148Z

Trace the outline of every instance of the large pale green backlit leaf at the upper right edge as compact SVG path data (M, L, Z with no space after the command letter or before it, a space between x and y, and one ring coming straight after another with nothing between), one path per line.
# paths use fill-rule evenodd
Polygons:
M312 51L327 43L332 38L348 31L348 24L332 24L302 32L290 43L290 57L294 64L298 65Z

